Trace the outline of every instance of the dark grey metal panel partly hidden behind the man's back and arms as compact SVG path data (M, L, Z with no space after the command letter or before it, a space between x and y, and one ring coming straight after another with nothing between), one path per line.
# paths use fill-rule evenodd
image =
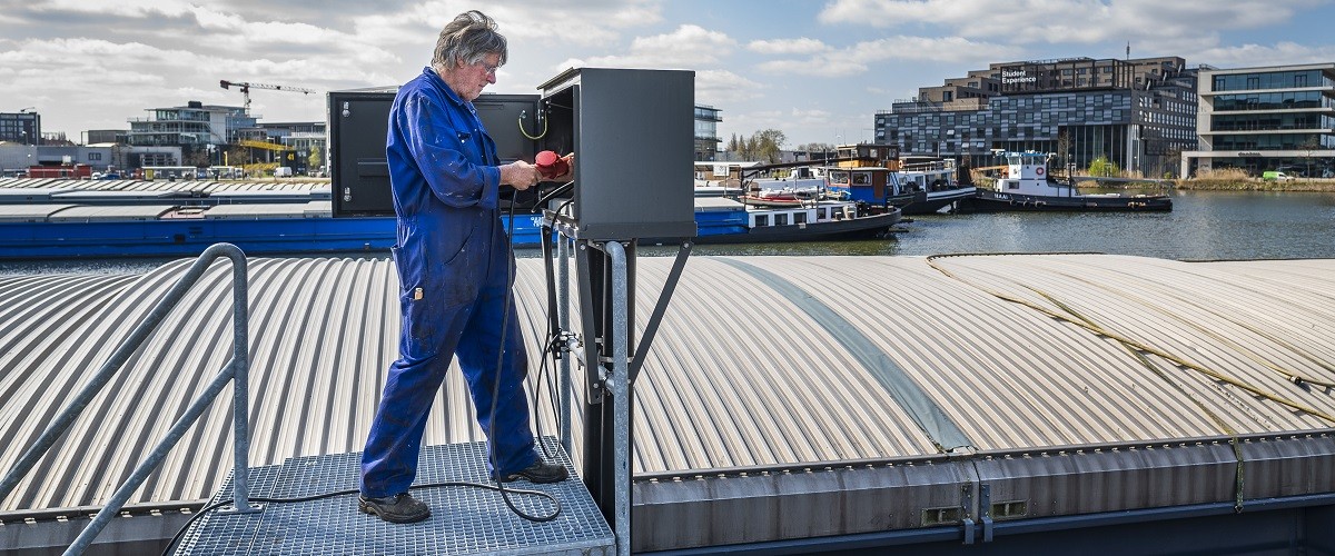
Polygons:
M384 144L398 87L332 91L330 101L330 185L334 216L394 216ZM483 93L473 101L497 144L501 164L533 163L537 141L519 131L538 124L538 95ZM521 195L525 196L525 195ZM527 197L535 197L529 193Z

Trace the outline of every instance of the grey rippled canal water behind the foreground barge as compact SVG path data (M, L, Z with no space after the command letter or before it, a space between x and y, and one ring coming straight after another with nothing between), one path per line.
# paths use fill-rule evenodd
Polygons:
M890 239L698 245L693 255L1100 252L1176 260L1335 259L1335 193L1177 191L1167 213L913 216ZM641 247L641 256L676 255ZM519 257L541 256L517 249ZM352 253L364 256L364 253ZM138 273L168 259L0 261L0 275Z

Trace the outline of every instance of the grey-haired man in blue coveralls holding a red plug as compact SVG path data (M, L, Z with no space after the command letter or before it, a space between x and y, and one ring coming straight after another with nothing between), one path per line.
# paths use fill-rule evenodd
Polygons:
M501 185L527 189L538 183L538 169L522 160L501 165L473 107L506 61L506 40L495 28L478 11L445 25L431 67L399 89L390 109L386 155L398 213L403 332L362 453L359 499L363 512L386 521L431 516L407 491L431 400L455 355L487 432L493 476L533 483L567 476L534 449L523 391L527 355L507 303L514 253L497 208Z

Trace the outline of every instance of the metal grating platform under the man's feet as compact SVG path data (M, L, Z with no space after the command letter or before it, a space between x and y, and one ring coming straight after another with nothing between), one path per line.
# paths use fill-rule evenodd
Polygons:
M358 511L356 495L302 503L264 503L258 513L212 512L186 532L178 555L611 555L615 537L553 437L547 452L570 471L558 484L507 483L539 489L561 501L561 515L533 523L514 515L501 493L473 487L414 488L431 517L390 524ZM282 465L250 469L251 497L302 497L358 488L360 453L292 457ZM470 481L490 484L483 443L422 449L414 485ZM231 476L210 504L231 499ZM531 515L547 515L551 503L510 495Z

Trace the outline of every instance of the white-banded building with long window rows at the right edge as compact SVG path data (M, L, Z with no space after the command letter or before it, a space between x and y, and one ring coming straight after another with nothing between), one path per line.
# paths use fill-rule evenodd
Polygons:
M1183 172L1240 168L1335 177L1335 64L1203 69L1200 151Z

